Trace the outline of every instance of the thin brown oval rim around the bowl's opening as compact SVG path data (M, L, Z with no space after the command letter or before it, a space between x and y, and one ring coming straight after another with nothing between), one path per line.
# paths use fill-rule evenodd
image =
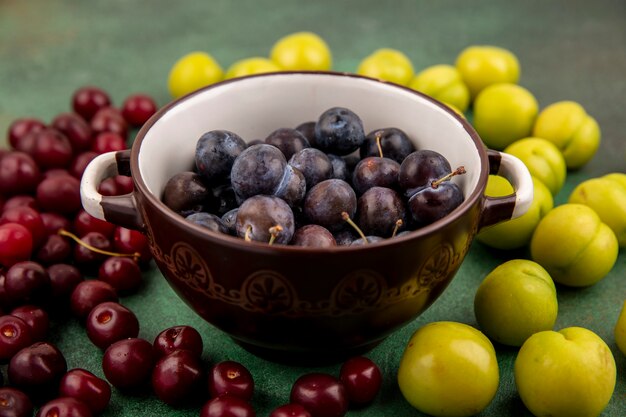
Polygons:
M469 196L463 200L463 202L454 209L451 213L446 215L445 217L427 225L421 227L416 230L412 230L409 233L402 236L395 236L394 238L384 239L382 241L366 244L366 245L357 245L357 246L333 246L328 248L317 248L317 247L305 247L305 246L294 246L294 245L269 245L265 242L256 242L256 241L244 241L243 239L222 234L219 232L213 232L202 226L193 224L184 219L184 217L175 213L173 210L168 208L160 199L159 196L153 194L146 185L143 177L141 176L141 170L139 168L139 152L141 148L141 144L145 139L147 133L152 128L152 126L159 120L163 115L165 115L172 108L176 107L180 103L183 103L190 98L203 94L205 91L212 90L215 88L220 88L224 85L228 85L231 83L237 83L243 80L251 79L251 78L264 78L264 77L280 77L280 76L289 76L289 75L324 75L324 76L333 76L333 77L349 77L349 78L360 78L368 81L372 81L375 83L381 83L385 85L392 86L393 88L398 88L404 91L407 91L411 94L415 94L426 101L434 104L435 106L440 107L445 112L454 117L458 122L461 123L463 129L466 131L468 136L472 139L474 146L476 147L476 151L478 152L479 160L480 160L480 173L478 175L478 182L474 189L472 190ZM446 106L442 102L424 94L417 90L413 90L407 86L403 86L400 84L396 84L390 81L385 81L377 78L372 78L356 73L350 72L340 72L340 71L279 71L279 72L268 72L262 74L253 74L247 75L227 80L222 80L208 86L197 89L193 92L190 92L184 96L181 96L177 99L170 101L165 104L161 108L157 110L157 112L146 121L142 127L137 132L135 139L133 141L131 147L131 157L130 157L130 169L131 175L133 178L133 182L135 183L135 191L140 192L143 199L149 202L149 204L155 208L161 215L170 219L173 223L175 223L178 227L180 227L185 233L190 233L195 235L197 238L208 239L215 244L228 246L231 249L245 249L249 248L251 250L256 251L266 251L268 253L301 253L301 254L333 254L333 253L345 253L345 252L353 252L353 251L368 251L368 250L378 250L383 247L394 247L402 244L403 242L411 241L411 240L419 240L423 237L429 236L433 233L436 233L439 229L444 228L445 226L454 223L460 217L464 216L469 210L474 207L475 204L479 203L479 200L484 200L484 190L487 185L487 179L489 177L489 158L487 155L487 149L482 142L482 139L474 129L474 127L462 116L456 113L452 108ZM143 220L145 222L145 219Z

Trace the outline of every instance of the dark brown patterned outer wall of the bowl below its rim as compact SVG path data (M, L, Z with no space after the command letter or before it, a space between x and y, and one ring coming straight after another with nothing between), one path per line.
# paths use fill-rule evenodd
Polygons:
M480 211L474 205L403 245L285 256L269 245L207 240L151 201L139 206L155 261L178 295L249 350L283 359L366 351L417 317L457 272Z

